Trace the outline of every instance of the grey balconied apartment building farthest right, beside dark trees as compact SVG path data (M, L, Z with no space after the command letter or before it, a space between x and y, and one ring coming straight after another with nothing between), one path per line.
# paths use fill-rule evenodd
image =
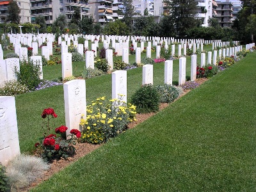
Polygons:
M215 18L219 20L221 27L230 28L232 24L232 3L228 0L226 1L216 1L218 7L216 8L217 15L214 15Z

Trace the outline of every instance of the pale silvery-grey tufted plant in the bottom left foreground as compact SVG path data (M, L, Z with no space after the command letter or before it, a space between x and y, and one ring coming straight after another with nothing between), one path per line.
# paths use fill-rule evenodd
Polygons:
M21 154L16 156L6 168L12 191L19 190L36 179L42 177L45 170L49 169L49 165L40 157L26 156Z

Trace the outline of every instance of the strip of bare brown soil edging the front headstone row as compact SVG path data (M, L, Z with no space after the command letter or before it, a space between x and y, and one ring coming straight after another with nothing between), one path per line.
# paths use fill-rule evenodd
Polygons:
M207 79L205 79L205 78L204 79L196 79L196 82L199 84L202 84L205 81L207 81ZM185 90L183 95L186 95L186 93L188 93L189 91L190 90ZM181 95L180 97L182 97L183 95ZM163 110L168 105L169 105L168 103L161 103L159 106L159 111ZM145 120L150 118L150 116L153 116L155 114L156 113L136 114L137 121L131 122L128 125L128 129L132 129L132 128L136 127L136 125L141 124L142 122L144 122ZM104 144L92 145L89 143L77 143L76 154L74 155L74 157L68 157L67 160L60 159L58 161L56 161L56 160L52 161L51 168L44 172L44 176L42 178L37 179L35 182L31 183L27 188L20 189L20 191L22 191L22 192L29 191L29 189L35 187L36 185L40 184L44 180L49 179L54 173L60 172L60 170L62 170L66 166L68 166L68 164L71 164L71 163L77 161L79 158L86 156L86 154L89 154L93 150L99 148L101 145L104 145Z

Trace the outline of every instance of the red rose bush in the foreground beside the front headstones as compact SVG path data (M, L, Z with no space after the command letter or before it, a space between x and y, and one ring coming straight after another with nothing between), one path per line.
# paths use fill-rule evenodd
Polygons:
M52 159L67 159L75 154L76 148L76 140L79 140L81 137L81 132L77 129L72 129L70 131L70 138L66 140L66 131L68 127L65 125L61 125L60 127L55 129L54 134L50 134L51 126L50 126L50 119L57 118L54 109L47 108L44 109L42 113L42 118L47 120L47 130L44 133L44 137L40 138L40 142L35 143L36 148L42 149L41 156L45 161L51 161ZM44 128L44 126L43 126Z

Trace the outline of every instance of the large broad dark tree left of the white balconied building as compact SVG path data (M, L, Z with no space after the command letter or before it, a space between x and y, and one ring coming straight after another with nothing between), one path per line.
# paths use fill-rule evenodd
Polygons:
M198 24L195 19L196 1L195 0L164 0L168 10L169 17L173 21L173 25L177 36L184 38L186 31Z

